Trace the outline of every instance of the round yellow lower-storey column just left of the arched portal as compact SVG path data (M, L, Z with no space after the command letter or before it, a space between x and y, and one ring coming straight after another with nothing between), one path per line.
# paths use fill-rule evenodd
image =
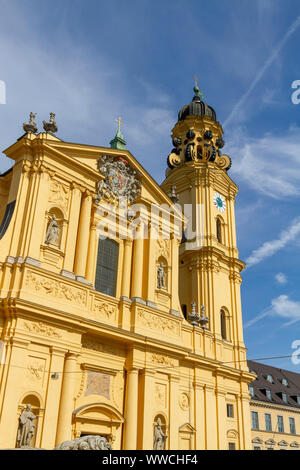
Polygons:
M65 360L56 432L56 445L71 439L76 359L76 354L68 354Z

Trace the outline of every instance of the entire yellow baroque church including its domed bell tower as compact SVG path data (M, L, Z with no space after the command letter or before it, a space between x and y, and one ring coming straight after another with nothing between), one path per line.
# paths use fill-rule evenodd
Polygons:
M120 129L109 148L69 143L54 117L38 133L31 116L0 175L0 448L21 446L31 405L33 447L251 449L238 188L214 110L195 87L161 186Z

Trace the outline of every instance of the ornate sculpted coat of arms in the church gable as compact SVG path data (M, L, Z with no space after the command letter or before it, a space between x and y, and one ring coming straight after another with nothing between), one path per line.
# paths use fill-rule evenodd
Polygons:
M119 205L120 199L132 204L141 192L139 174L122 157L103 155L98 160L99 172L104 176L97 184L97 202L106 201Z

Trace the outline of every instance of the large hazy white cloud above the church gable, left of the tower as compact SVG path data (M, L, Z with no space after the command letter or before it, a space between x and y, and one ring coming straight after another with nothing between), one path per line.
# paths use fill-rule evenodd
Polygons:
M56 8L60 16L58 4ZM64 5L61 8L63 13ZM97 50L97 57L86 45L74 47L68 29L57 30L51 41L47 40L50 31L40 37L36 25L32 27L29 10L19 11L14 1L6 2L3 12L14 18L15 33L2 17L0 57L5 67L0 79L6 83L7 104L0 107L1 149L23 134L22 123L30 111L37 112L40 131L41 121L54 112L58 137L100 146L109 146L116 132L115 118L121 116L127 148L157 176L152 155L159 155L161 149L165 157L162 166L166 166L170 129L176 122L168 91L139 76L132 77L104 47ZM141 95L143 99L139 99ZM0 158L1 171L11 164Z

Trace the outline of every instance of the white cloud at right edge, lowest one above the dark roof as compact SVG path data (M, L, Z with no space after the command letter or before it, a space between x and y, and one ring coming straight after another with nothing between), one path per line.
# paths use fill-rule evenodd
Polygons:
M273 316L287 320L281 327L287 327L300 321L300 301L291 300L288 295L279 295L271 301L271 305L245 325L254 325L265 317Z

